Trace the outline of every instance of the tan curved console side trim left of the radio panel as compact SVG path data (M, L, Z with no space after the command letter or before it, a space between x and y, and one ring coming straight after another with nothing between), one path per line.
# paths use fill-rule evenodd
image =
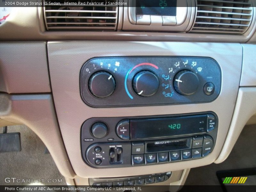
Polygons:
M0 118L27 125L44 142L60 173L74 178L56 119L52 96L0 94Z

